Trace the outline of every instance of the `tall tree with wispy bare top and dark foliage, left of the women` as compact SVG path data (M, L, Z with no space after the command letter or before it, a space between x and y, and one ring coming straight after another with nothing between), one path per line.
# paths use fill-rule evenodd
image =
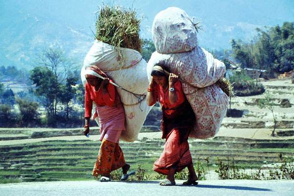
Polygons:
M39 56L40 66L35 67L30 73L30 80L35 84L35 95L39 96L47 110L47 121L50 126L55 126L58 103L66 104L73 98L77 78L73 75L73 64L64 56L60 49L47 49ZM71 69L71 70L70 70ZM67 112L67 117L68 117Z

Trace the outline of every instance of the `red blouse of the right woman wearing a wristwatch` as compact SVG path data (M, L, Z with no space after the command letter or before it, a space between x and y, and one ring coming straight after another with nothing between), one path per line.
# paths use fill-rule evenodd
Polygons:
M176 108L185 101L185 95L182 90L182 83L178 80L174 83L174 90L176 93L177 100L171 104L169 99L169 89L164 90L161 85L156 82L153 83L153 102L150 105L154 105L157 100L162 106L168 109Z

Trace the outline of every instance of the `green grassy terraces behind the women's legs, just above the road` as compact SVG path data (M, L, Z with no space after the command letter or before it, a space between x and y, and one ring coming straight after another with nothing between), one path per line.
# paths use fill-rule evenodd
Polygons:
M135 143L121 143L125 159L135 169L139 164L151 175L153 162L163 150L163 140L144 139ZM245 168L259 168L279 162L279 153L294 156L294 141L223 141L191 140L194 162L216 163L216 158L233 160ZM96 161L100 142L89 140L48 141L23 145L0 146L0 182L87 180Z

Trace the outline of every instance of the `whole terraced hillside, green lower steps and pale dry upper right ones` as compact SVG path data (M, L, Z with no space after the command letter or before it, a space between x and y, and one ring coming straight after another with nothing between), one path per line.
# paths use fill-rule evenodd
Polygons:
M245 168L259 168L265 163L280 162L280 154L294 156L294 85L288 80L264 85L276 102L276 136L270 136L271 114L256 105L263 95L232 98L231 107L244 110L245 114L241 118L225 118L213 139L190 139L195 163L200 161L208 164L208 170L215 170L213 164L217 164L219 157ZM290 105L282 107L282 99L288 99ZM125 159L133 169L141 165L155 175L152 165L164 145L158 131L158 127L144 127L142 132L148 133L140 134L140 140L121 142ZM98 138L95 133L98 128L92 128L90 138ZM0 128L0 182L92 179L100 142L80 134L80 128Z

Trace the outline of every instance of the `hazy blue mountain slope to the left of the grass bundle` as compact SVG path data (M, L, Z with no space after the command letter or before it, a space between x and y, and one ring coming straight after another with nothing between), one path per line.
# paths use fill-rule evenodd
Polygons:
M70 25L20 12L0 28L0 65L15 65L28 70L48 47L63 49L69 58L81 64L94 40L82 29L75 30Z

